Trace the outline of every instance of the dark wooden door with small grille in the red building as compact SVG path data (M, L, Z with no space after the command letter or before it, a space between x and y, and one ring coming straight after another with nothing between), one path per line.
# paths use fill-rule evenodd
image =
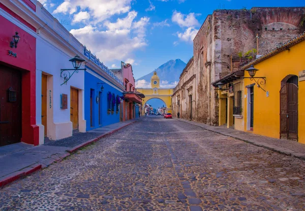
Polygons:
M0 146L21 139L21 73L0 66Z

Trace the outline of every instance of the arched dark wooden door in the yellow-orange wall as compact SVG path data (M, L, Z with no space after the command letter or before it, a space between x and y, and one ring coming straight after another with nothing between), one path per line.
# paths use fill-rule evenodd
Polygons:
M298 138L298 87L286 83L280 91L280 137Z

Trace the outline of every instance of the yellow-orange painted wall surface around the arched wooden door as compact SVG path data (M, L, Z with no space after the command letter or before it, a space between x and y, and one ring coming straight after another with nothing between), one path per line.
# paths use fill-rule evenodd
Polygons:
M254 85L254 120L253 133L264 136L280 138L280 89L281 81L287 75L299 76L299 72L305 70L305 41L291 46L289 50L284 50L273 55L264 61L254 64L259 71L255 77L266 77L266 83L259 88ZM250 77L245 71L245 77ZM258 78L256 78L258 80ZM243 121L245 131L249 131L249 88L247 85L254 81L244 79L244 99ZM298 141L305 143L305 80L298 80ZM248 120L248 121L247 121ZM248 126L247 126L248 123Z

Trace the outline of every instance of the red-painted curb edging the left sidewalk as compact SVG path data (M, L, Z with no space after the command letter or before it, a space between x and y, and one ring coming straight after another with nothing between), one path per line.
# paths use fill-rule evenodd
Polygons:
M112 133L115 133L116 131L122 129L122 128L125 128L133 123L137 122L137 120L135 120L134 122L132 123L129 123L127 125L124 125L124 126L121 126L117 129L114 129L108 133L105 133L95 139L91 139L91 140L88 140L84 143L81 143L71 149L67 149L66 152L67 153L61 153L61 154L54 154L52 155L50 158L47 158L47 159L44 159L43 161L41 161L41 164L32 164L31 166L28 166L28 167L25 167L19 171L15 171L11 174L8 174L6 175L5 177L3 177L2 179L0 179L0 189L4 188L5 186L9 185L10 183L16 181L17 179L20 179L20 178L23 178L25 176L28 176L42 168L47 168L49 165L51 165L52 163L56 162L56 161L61 161L63 160L64 158L72 155L73 153L75 153L77 150L79 150L80 148L84 147L84 146L87 146L87 145L90 145L94 142L97 142L99 141L100 139L108 136L108 135L111 135Z

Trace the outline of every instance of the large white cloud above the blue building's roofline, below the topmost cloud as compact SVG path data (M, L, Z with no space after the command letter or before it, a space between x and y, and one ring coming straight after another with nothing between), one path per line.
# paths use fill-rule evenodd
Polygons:
M145 32L149 18L142 17L133 21L137 13L132 11L126 18L117 19L116 22L106 22L106 31L98 27L87 25L83 28L72 29L70 32L82 44L86 45L103 62L125 61L133 53L146 46ZM96 42L99 40L99 42Z

